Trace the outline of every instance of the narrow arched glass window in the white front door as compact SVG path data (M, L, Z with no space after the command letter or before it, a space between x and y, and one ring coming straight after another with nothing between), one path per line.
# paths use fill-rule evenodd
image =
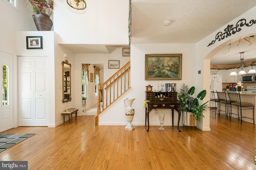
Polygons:
M9 105L9 70L8 66L2 66L2 106Z

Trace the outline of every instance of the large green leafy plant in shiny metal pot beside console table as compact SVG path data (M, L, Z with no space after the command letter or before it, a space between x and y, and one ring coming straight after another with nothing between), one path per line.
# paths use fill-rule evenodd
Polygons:
M204 117L203 112L210 109L205 102L199 105L199 100L203 100L206 96L206 90L202 90L197 96L194 95L195 87L188 87L186 84L182 84L180 87L180 92L177 94L180 100L179 111L185 113L185 119L183 125L186 126L196 126L196 121L200 121L200 117Z

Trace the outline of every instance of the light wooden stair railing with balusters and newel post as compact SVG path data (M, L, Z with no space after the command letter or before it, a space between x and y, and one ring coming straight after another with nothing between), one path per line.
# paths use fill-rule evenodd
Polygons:
M102 85L98 84L98 109L95 117L96 125L99 124L99 115L106 108L111 106L118 98L120 98L130 87L130 61L113 74ZM102 98L102 110L100 110L100 97Z

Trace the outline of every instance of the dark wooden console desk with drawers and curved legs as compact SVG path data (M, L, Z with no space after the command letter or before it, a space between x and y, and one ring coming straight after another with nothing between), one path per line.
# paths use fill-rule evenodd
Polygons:
M174 110L178 112L178 131L179 124L180 124L180 111L178 111L178 108L180 107L179 102L177 102L177 92L145 92L146 93L146 100L149 100L150 102L147 102L145 107L145 115L146 115L146 122L148 119L148 129L149 131L149 112L152 109L172 109L172 126L173 126L173 119L174 119Z

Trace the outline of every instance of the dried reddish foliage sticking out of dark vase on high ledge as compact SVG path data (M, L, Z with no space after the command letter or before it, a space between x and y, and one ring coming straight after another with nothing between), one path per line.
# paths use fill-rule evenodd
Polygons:
M53 14L53 0L27 0L33 6L32 15L34 17L38 13L47 14L51 16Z

